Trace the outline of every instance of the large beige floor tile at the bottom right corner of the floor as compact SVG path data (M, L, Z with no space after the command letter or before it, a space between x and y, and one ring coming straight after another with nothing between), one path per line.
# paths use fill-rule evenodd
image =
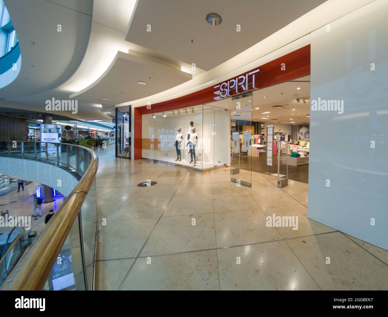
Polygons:
M388 289L388 267L340 232L286 243L322 290Z

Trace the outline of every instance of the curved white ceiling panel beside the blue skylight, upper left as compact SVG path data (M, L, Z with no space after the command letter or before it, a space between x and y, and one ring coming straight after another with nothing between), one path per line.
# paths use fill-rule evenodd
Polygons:
M84 57L92 25L92 0L57 3L5 0L23 58L19 76L0 91L12 100L54 89L69 79ZM59 27L60 25L60 27Z

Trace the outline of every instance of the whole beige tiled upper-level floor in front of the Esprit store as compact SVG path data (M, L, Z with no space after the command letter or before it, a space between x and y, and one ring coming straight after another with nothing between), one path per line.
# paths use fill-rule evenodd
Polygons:
M308 184L97 154L98 289L388 289L388 251L308 219Z

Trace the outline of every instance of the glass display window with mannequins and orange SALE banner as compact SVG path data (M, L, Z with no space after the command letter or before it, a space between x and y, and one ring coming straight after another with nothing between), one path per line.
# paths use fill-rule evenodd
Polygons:
M199 170L227 165L227 116L211 105L145 114L142 157Z

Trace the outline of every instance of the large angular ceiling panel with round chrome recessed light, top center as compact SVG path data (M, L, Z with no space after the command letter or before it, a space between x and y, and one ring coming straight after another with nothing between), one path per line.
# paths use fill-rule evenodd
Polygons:
M325 1L142 0L125 39L208 71ZM220 25L206 22L212 12Z

